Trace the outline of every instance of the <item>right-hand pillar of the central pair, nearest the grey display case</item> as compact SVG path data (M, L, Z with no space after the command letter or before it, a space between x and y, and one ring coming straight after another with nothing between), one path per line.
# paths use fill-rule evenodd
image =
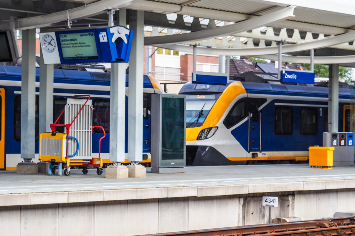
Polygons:
M143 50L144 12L130 11L130 29L134 30L128 88L128 160L142 161L143 148Z

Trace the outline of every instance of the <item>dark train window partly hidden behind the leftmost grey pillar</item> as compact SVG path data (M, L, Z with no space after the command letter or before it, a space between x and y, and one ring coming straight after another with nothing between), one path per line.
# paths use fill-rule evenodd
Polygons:
M35 100L35 142L38 142L38 117L39 96ZM17 95L13 101L13 138L16 142L21 141L21 95Z

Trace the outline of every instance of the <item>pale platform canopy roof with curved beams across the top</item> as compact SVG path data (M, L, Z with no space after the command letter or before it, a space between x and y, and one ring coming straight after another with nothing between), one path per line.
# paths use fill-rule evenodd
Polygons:
M293 5L295 7L290 7ZM275 46L278 41L292 45L305 43L301 47L303 51L297 51L296 46L289 47L294 48L287 52L294 56L289 60L307 61L310 45L313 45L313 48L318 48L316 57L337 56L336 62L355 65L355 58L352 59L355 54L353 0L0 0L0 29L42 28L53 31L67 28L69 24L72 28L102 27L108 25L107 11L119 8L145 12L147 45L189 51L184 47L195 44L204 51L211 48L212 54L219 54L216 52L221 48L252 48L254 53L251 54L257 56L255 47L262 51ZM118 19L118 14L116 17ZM237 28L236 24L243 26L248 22L252 23L244 30L243 27ZM237 30L223 35L214 35L223 29L211 30L223 27L235 27ZM188 39L185 42L166 40L169 34L186 33L194 33L195 38L181 37ZM347 35L327 39L342 34ZM211 38L207 39L206 35ZM150 36L154 37L149 39ZM166 43L162 43L164 41ZM309 44L309 41L320 42ZM229 51L225 54L238 53L238 50ZM246 56L248 52L243 51ZM259 56L272 59L275 55L261 53ZM315 59L315 63L317 60L319 63L335 63L329 58L320 59Z

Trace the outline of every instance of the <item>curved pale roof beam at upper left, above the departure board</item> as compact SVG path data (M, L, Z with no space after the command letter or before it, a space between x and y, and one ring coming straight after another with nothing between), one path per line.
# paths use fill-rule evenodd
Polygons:
M68 11L61 11L42 16L35 16L29 18L21 18L15 20L16 29L31 29L48 27L62 21L76 20L84 17L91 17L98 15L100 12L108 10L109 8L125 7L140 0L101 0L82 7L70 9ZM5 28L10 21L0 22L0 28Z

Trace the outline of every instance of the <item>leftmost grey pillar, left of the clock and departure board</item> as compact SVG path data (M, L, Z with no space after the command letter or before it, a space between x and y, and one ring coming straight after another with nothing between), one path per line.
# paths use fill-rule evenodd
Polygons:
M34 159L36 29L22 31L21 158Z

